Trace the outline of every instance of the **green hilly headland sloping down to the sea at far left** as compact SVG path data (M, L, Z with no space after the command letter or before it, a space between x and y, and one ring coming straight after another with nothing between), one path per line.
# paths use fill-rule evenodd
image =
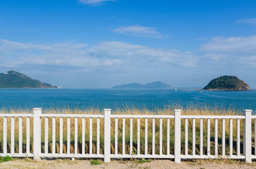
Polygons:
M34 80L27 75L15 70L0 73L0 88L58 88L51 84L46 84Z

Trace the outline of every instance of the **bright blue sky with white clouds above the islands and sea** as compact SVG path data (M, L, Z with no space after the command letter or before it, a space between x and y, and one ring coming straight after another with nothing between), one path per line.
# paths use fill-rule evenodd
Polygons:
M0 72L65 88L256 89L256 1L1 0Z

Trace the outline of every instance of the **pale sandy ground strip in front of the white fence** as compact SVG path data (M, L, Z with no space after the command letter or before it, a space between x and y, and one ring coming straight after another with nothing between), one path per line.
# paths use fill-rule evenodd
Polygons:
M89 160L76 160L70 159L54 159L33 161L32 159L13 159L12 161L0 163L0 168L256 168L256 162L246 164L243 161L234 160L197 160L197 161L182 161L177 164L170 160L156 159L149 163L138 164L136 161L111 161L110 163L102 163L101 165L92 166Z

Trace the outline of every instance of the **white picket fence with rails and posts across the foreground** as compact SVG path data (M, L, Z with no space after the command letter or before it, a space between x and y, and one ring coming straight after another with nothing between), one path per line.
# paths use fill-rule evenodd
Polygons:
M256 115L252 115L252 110L243 110L243 115L181 115L181 110L175 110L174 115L115 115L111 114L111 109L104 109L104 115L93 115L93 114L42 114L42 108L34 108L33 114L0 114L0 117L3 117L3 145L0 149L3 151L0 153L0 156L12 156L12 157L33 157L34 159L40 158L104 158L105 162L109 162L111 158L165 158L165 159L174 159L175 162L180 163L180 159L198 159L198 158L230 158L230 159L245 159L247 163L252 163L252 159L256 159L256 150L255 142L252 141L252 134L256 133L256 122L254 123L254 131L252 131L252 121L256 119ZM33 117L33 141L30 140L30 121ZM8 120L10 119L11 126L10 131L8 131ZM18 151L15 151L15 118L19 118L19 143ZM22 149L22 119L26 118L26 150ZM44 124L41 120L44 118ZM51 152L48 152L48 136L49 136L49 125L48 119L52 118L52 144ZM60 118L60 139L59 139L59 149L60 151L56 152L56 118ZM67 118L67 124L63 124L63 118ZM70 118L74 118L74 124L71 124ZM81 142L81 152L77 151L77 119L82 119L82 142ZM89 152L86 153L85 150L85 118L89 118ZM97 119L97 141L96 141L96 152L93 153L93 118ZM100 118L104 119L104 147L103 151L100 154ZM115 153L111 153L111 119L115 119ZM122 153L118 154L118 119L122 120ZM143 128L145 129L145 151L141 154L141 119L143 119ZM166 121L166 132L163 132L163 119ZM196 119L200 119L200 148L199 152L196 152ZM241 122L241 119L243 121ZM130 122L130 138L129 138L129 152L125 152L125 121ZM152 121L152 151L148 151L148 121ZM156 120L159 121L159 126L156 126ZM174 122L174 128L170 128L170 120ZM185 122L184 126L184 145L181 145L181 121ZM214 150L211 150L211 126L210 122L214 121ZM225 124L226 120L229 120L230 132L229 132L229 153L226 154L225 146ZM137 121L137 143L134 143L133 136L134 132L132 131L133 125L132 122ZM192 129L188 129L188 122L192 121ZM204 151L204 126L203 122L207 122L207 151ZM221 125L221 155L218 154L218 121L222 121ZM236 149L233 147L233 121L237 122L237 133L236 133ZM243 124L243 154L240 151L240 128ZM16 124L17 125L17 124ZM41 140L41 126L44 125L44 152L42 152L42 140ZM63 125L67 125L67 152L63 152ZM74 125L74 153L70 152L70 125ZM156 149L156 127L159 128L159 152L155 151ZM174 130L174 153L170 154L170 130ZM189 130L192 130L192 153L189 154L189 143L188 136ZM10 148L8 149L8 139L7 134L10 132ZM73 131L72 131L73 132ZM163 133L166 133L166 149L163 153ZM254 136L255 139L255 136ZM134 144L137 144L136 153L132 150ZM252 145L253 144L253 145ZM30 147L30 145L33 145ZM119 144L120 145L120 144ZM181 146L184 146L184 153L181 153ZM254 149L255 154L252 154L252 149ZM236 153L233 153L233 152ZM148 153L150 152L150 153Z

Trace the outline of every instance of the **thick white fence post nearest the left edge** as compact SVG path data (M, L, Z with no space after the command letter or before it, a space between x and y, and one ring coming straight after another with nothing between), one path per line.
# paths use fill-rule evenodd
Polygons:
M42 108L33 108L33 156L40 159L41 152L41 119Z

